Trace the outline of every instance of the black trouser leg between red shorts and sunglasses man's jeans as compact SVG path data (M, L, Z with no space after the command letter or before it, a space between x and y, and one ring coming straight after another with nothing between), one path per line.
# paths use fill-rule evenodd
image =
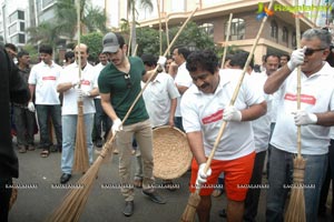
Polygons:
M264 167L264 161L266 157L266 151L256 153L252 178L249 181L249 189L247 191L245 200L245 213L244 221L255 222L257 214L258 200L261 194L262 184L262 172Z

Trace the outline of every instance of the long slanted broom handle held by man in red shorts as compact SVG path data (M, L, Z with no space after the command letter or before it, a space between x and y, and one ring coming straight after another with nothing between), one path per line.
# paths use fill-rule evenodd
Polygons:
M273 7L273 2L274 2L274 0L271 0L269 7L268 7L269 10L271 10L272 7ZM234 93L233 93L233 95L232 95L232 99L230 99L230 101L229 101L229 105L234 105L234 103L235 103L235 100L236 100L236 98L237 98L237 95L238 95L240 85L242 85L243 80L244 80L244 78L245 78L247 67L248 67L249 63L250 63L252 57L253 57L253 54L254 54L256 44L257 44L257 42L258 42L259 36L261 36L261 33L262 33L262 30L263 30L263 28L264 28L264 24L265 24L266 20L267 20L267 17L265 17L265 18L262 20L262 23L261 23L259 30L258 30L258 32L257 32L256 39L255 39L255 41L254 41L254 43L253 43L253 47L252 47L252 50L250 50L249 56L248 56L248 58L247 58L246 64L245 64L245 67L244 67L244 69L243 69L243 73L242 73L242 75L240 75L239 82L238 82L237 87L235 88ZM218 135L217 135L216 141L215 141L215 144L214 144L214 148L213 148L213 150L212 150L212 152L210 152L210 154L209 154L209 157L208 157L208 159L207 159L207 161L206 161L206 165L205 165L205 168L204 168L204 172L205 172L205 173L207 172L207 170L209 169L209 167L210 167L210 164L212 164L213 158L214 158L214 155L215 155L215 152L216 152L216 150L217 150L217 147L218 147L218 144L219 144L219 142L220 142L220 139L222 139L222 137L223 137L223 133L224 133L224 131L225 131L226 124L227 124L227 122L223 120L222 127L220 127L220 129L219 129ZM197 188L197 189L196 189L196 192L199 193L199 191L200 191L200 188Z

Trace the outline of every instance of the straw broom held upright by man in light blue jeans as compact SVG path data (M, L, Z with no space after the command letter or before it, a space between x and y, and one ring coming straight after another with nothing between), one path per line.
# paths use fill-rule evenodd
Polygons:
M77 22L78 22L78 47L80 51L80 0L77 0ZM78 57L79 67L79 80L81 80L81 56ZM79 83L79 89L81 88L81 82ZM75 149L75 172L86 172L89 168L88 163L88 151L86 144L86 132L85 132L85 121L84 121L84 101L82 98L78 99L78 119L77 119L77 134L76 134L76 149Z

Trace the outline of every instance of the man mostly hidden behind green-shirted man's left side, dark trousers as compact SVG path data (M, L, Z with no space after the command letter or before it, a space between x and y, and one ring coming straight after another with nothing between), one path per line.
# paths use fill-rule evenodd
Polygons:
M100 71L108 64L108 54L100 52L99 53L99 63L94 67L95 72L95 81L96 85L98 77L100 74ZM102 142L102 130L105 131L105 140L107 139L108 132L111 128L111 120L109 117L105 113L102 107L101 107L101 97L98 95L94 98L94 104L96 109L96 113L94 115L94 137L92 141L96 142L96 147L101 148L104 145Z

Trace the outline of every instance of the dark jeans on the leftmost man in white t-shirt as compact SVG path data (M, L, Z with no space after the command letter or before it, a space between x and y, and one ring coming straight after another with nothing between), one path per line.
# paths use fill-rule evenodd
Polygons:
M61 137L61 108L60 104L37 104L37 118L40 130L40 147L42 149L49 150L52 145L52 141L48 130L48 118L51 117L52 124L56 132L57 138L57 147L60 147L62 143Z

